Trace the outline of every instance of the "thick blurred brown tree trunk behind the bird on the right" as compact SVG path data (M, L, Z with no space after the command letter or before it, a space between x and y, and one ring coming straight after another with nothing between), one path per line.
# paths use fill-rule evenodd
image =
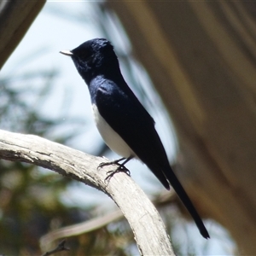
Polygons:
M177 176L196 208L223 224L241 253L256 254L256 3L108 6L174 122Z

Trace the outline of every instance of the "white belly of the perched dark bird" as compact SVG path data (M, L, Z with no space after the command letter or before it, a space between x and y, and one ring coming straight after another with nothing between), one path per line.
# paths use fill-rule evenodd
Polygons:
M116 154L128 158L130 156L135 156L131 148L125 143L125 141L119 136L118 133L113 131L113 129L108 125L102 115L99 113L98 108L95 104L92 105L92 111L94 113L94 119L98 131L100 132L103 140Z

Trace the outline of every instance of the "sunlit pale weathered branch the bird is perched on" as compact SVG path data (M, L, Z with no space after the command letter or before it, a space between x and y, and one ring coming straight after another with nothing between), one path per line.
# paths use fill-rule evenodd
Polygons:
M97 167L104 160L33 135L0 131L0 158L21 161L58 172L102 190L124 213L143 255L174 255L165 226L148 197L131 177L117 173L105 183L116 166Z

